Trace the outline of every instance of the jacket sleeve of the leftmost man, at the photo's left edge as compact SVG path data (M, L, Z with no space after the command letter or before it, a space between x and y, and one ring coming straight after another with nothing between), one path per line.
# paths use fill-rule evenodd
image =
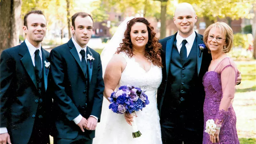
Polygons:
M12 56L3 51L0 58L0 127L7 127L8 104L11 96L13 95L12 80L14 73L15 62Z

